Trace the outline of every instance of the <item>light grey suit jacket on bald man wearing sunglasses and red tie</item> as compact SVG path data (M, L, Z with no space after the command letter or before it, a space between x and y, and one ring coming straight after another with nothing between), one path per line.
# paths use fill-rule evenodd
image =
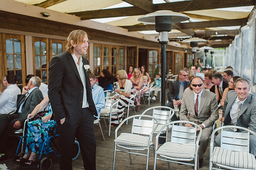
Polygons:
M186 115L189 112L189 119ZM216 95L210 91L205 91L200 100L198 116L195 115L195 105L194 105L194 92L189 91L183 95L180 113L180 120L195 122L198 124L204 124L206 127L212 126L215 120L218 119L218 104L216 100Z

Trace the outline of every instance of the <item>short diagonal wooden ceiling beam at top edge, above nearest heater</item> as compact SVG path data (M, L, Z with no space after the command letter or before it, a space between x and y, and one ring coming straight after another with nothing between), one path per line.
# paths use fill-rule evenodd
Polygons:
M149 0L122 0L127 3L130 3L133 6L137 6L138 8L141 8L147 12L154 12L155 6L152 2Z

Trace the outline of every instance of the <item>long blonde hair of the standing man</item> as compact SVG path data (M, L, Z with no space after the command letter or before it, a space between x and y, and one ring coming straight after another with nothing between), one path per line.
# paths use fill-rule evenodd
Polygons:
M73 43L76 45L79 45L83 42L84 36L87 36L87 33L83 30L74 30L71 31L69 36L67 37L67 45L66 45L66 50L69 52L69 54L73 54L73 46L70 43L71 40L73 40Z

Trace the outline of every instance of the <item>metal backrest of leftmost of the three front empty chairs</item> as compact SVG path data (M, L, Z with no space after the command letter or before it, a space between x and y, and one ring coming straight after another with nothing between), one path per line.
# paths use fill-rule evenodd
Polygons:
M134 117L131 127L131 133L150 135L154 129L154 119L145 120L145 119L136 119Z

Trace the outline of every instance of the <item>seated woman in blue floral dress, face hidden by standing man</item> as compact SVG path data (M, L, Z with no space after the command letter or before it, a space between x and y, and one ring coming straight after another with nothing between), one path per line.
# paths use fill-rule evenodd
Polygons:
M48 95L35 107L35 109L28 114L27 118L32 119L36 113L42 111L49 104ZM36 154L41 152L43 143L48 140L48 132L51 127L54 127L55 121L50 120L52 117L52 107L49 105L49 112L45 113L41 119L36 119L28 122L28 132L26 139L25 155L16 162L19 164L34 165Z

